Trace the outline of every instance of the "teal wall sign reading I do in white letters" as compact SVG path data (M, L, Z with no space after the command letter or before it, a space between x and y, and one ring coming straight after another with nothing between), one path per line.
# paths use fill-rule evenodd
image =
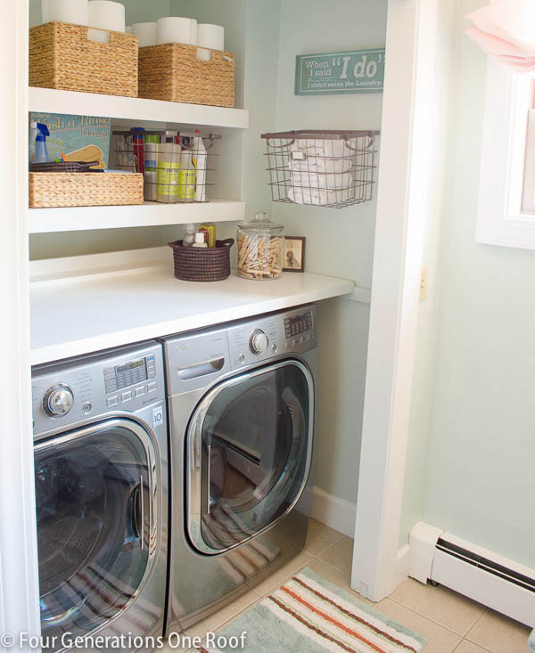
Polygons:
M295 94L383 93L384 48L298 54Z

